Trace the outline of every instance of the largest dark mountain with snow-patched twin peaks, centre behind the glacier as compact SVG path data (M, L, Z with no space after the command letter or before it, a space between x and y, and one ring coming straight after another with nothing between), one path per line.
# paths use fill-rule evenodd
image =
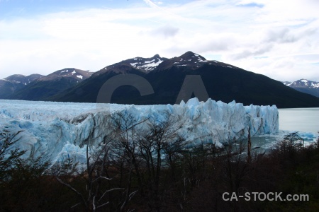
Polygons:
M223 102L235 100L244 105L276 105L281 108L319 107L319 98L298 92L267 76L245 71L219 61L206 60L194 52L186 52L180 57L172 59L155 55L148 59L136 57L121 61L106 66L85 81L64 90L63 93L57 93L47 100L96 102L104 83L119 74L129 76L128 73L138 76L131 79L130 85L138 85L143 81L141 79L144 79L150 83L154 93L141 96L139 90L134 86L128 86L127 82L123 86L121 84L123 82L119 81L118 86L120 87L114 90L111 102L136 105L174 104L179 101L177 98L180 97L180 93L185 93L187 89L189 92L190 89L190 92L193 90L194 93L203 94L204 98L209 97ZM186 76L188 77L186 78ZM201 78L198 79L197 76L201 76ZM182 86L185 85L185 79L186 87L189 88L183 87L184 90L181 90ZM108 90L103 90L103 92L106 95Z

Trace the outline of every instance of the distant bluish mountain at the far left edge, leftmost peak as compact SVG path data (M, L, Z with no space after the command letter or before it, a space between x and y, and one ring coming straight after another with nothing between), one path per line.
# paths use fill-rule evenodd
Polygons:
M16 90L26 86L28 83L41 78L40 74L31 74L24 76L22 74L14 74L7 78L0 79L0 99L10 98Z

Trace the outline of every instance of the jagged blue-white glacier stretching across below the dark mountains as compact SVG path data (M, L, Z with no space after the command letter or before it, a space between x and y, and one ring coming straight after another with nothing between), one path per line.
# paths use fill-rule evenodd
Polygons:
M52 161L76 157L85 162L86 145L96 146L109 133L108 114L126 112L137 120L152 118L156 122L167 114L180 117L188 146L229 141L279 131L279 112L272 106L244 106L235 101L199 102L192 98L179 105L117 105L74 102L33 102L0 100L0 127L11 133L21 131L16 145L27 156L45 155ZM142 129L146 122L140 124Z

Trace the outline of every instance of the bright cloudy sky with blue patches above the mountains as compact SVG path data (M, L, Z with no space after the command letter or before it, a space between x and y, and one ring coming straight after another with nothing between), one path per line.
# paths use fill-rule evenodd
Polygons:
M318 0L0 0L0 78L192 51L319 81Z

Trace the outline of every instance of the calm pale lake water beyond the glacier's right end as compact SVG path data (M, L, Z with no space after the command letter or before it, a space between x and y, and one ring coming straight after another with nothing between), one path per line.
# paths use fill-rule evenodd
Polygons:
M318 133L319 107L279 109L279 129Z

